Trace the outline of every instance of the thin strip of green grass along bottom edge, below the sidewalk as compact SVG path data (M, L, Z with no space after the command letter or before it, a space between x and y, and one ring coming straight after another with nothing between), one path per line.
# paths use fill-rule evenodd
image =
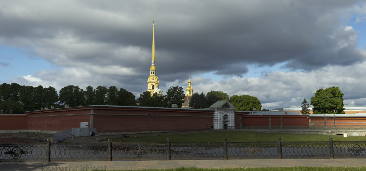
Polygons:
M265 167L265 168L177 168L139 171L365 171L366 167Z

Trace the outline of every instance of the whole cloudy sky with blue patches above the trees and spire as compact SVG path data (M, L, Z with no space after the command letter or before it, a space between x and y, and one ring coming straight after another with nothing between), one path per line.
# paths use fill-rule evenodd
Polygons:
M366 105L366 1L0 0L0 84L160 89L299 107L338 86Z

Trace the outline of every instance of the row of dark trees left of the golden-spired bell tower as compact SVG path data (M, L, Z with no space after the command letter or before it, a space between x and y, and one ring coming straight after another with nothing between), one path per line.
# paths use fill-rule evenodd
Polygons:
M59 94L53 87L20 86L18 83L0 85L0 109L4 114L20 113L22 111L40 110L41 107L54 106L58 108L68 104L72 106L85 105L119 105L136 106L135 95L123 88L116 86L86 87L65 86Z

